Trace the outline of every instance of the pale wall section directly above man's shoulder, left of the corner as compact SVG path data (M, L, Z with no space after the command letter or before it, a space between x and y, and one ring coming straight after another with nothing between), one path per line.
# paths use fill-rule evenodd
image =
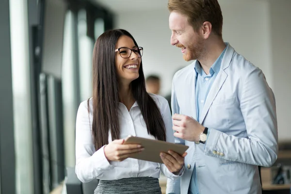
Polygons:
M273 87L269 3L267 1L224 1L223 38L247 60L264 72Z

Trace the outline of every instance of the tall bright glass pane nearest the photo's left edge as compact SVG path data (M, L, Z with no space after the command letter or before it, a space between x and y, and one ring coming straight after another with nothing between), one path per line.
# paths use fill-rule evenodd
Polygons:
M27 0L10 0L16 193L33 194L32 118Z

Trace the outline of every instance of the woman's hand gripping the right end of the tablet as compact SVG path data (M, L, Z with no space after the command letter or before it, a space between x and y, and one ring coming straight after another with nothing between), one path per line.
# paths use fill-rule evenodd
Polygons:
M171 173L178 174L184 165L184 157L186 155L186 152L180 156L178 153L170 150L168 153L161 152L160 157Z

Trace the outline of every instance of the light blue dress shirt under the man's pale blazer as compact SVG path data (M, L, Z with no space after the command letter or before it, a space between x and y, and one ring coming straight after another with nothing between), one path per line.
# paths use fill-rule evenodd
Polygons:
M227 43L226 43L226 46L227 46ZM225 52L226 52L226 48L222 51L220 56L216 59L214 64L210 67L210 71L208 75L204 72L198 60L196 61L194 69L196 71L195 95L196 95L196 113L197 113L198 122L199 122L199 117L201 113L200 110L203 109L204 103L211 89L212 83L214 82L220 70L221 62L222 62ZM210 130L208 131L208 134L209 133L210 133ZM194 166L188 194L199 194L198 183L197 183L197 178L196 178L196 165Z

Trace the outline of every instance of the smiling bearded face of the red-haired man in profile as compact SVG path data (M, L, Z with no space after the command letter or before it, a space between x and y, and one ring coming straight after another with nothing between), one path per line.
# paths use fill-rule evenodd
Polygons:
M204 53L204 39L189 24L187 16L171 12L169 27L172 31L171 45L181 48L185 61L199 59Z

